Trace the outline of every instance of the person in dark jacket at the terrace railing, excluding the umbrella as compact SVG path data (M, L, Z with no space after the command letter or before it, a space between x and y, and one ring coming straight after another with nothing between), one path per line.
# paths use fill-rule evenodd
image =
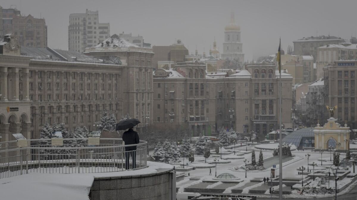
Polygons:
M139 144L139 134L133 130L134 127L123 133L122 139L125 145ZM132 158L132 169L136 168L136 146L125 147L125 169L130 169L130 157Z

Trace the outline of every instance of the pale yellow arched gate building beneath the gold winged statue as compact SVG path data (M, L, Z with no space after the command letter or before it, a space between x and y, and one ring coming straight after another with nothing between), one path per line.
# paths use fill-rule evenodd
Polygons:
M315 150L328 150L329 146L338 150L350 149L350 127L341 126L337 119L330 117L325 125L317 124L315 130ZM339 145L340 144L340 145Z

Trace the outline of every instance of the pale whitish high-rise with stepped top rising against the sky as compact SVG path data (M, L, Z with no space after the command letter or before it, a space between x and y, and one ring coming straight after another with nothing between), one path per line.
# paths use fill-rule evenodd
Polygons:
M110 37L109 23L99 23L98 11L69 15L68 50L84 52Z

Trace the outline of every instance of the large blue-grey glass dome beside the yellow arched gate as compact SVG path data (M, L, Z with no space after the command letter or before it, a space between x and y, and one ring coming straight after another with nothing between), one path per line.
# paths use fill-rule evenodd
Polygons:
M286 144L294 144L296 147L315 147L315 134L313 128L300 128L285 136L282 140Z

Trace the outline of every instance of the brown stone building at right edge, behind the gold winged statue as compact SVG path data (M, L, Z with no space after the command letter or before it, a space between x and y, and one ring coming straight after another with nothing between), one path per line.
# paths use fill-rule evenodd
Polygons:
M356 128L356 60L340 60L323 68L326 100L325 105L335 106L334 117L340 123Z

